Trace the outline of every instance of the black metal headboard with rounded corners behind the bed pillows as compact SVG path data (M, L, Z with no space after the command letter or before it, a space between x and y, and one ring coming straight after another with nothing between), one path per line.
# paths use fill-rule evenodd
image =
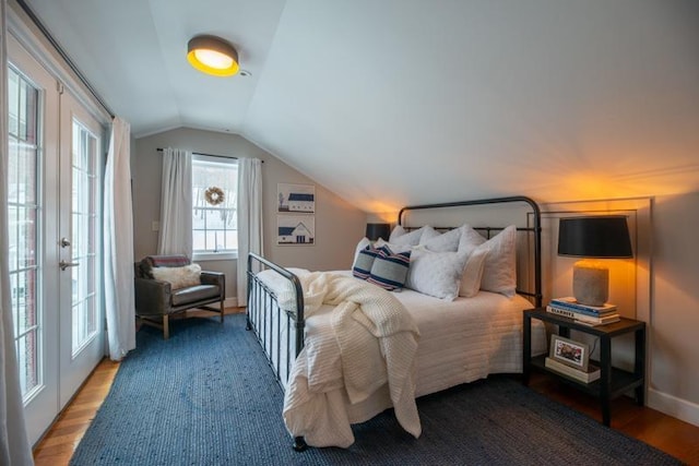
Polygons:
M486 238L509 225L517 227L517 292L532 299L536 307L542 306L541 211L532 199L518 195L411 205L398 214L398 224L408 230L423 225L448 230L464 223Z

